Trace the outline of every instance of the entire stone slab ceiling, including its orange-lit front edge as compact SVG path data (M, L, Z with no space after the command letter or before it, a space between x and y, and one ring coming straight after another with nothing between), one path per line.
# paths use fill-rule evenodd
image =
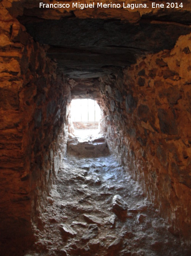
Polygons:
M88 3L98 1L89 1ZM43 3L53 3L44 0ZM66 3L59 1L59 3ZM35 41L49 45L47 55L70 78L97 78L110 74L113 67L136 63L139 56L170 50L180 35L191 31L191 3L181 9L152 8L39 8L37 0L10 0L13 17L26 27ZM83 3L81 1L80 3ZM110 3L110 1L102 1ZM128 3L135 4L133 0ZM165 1L160 1L160 4Z

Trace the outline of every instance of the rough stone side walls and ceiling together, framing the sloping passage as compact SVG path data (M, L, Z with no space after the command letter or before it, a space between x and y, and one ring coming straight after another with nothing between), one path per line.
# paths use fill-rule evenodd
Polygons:
M67 3L64 10L39 8L36 0L0 1L2 248L33 243L76 97L99 102L110 152L189 245L190 1L152 8L140 0L148 8L133 10Z

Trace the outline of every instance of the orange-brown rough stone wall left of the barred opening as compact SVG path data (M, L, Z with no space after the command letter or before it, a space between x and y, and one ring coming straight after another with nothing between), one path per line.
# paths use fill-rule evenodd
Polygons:
M0 237L27 245L66 151L70 87L2 7L0 20Z

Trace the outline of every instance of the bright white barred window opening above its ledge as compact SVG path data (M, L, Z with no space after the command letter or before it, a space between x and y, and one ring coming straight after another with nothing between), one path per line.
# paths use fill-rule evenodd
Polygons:
M99 122L101 110L92 99L74 99L71 101L72 122Z

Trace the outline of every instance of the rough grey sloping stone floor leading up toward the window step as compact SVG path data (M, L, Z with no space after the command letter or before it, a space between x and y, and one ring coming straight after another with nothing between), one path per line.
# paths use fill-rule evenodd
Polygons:
M25 256L188 255L112 155L68 155L48 201Z

